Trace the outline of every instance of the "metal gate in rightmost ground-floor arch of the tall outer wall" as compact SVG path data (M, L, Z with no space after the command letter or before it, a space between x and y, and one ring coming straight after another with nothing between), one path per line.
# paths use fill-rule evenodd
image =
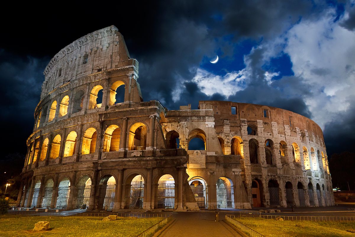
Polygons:
M155 205L156 208L174 209L175 207L175 184L160 183L155 187Z

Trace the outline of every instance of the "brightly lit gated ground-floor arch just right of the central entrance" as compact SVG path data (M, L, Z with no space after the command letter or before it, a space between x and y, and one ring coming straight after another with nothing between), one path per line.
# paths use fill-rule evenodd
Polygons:
M220 177L216 183L217 208L234 208L233 182L226 177Z

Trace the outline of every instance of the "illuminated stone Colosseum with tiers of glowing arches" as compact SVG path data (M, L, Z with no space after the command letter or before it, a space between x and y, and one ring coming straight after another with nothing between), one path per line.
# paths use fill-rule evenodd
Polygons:
M334 205L320 127L284 109L143 101L115 26L44 70L18 206L113 210ZM143 75L144 77L144 75ZM149 89L149 88L145 88Z

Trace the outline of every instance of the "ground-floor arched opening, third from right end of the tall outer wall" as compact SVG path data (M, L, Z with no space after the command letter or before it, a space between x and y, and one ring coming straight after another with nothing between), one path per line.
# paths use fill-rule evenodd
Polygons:
M100 200L103 200L102 208L112 210L115 202L116 179L113 176L105 176L101 179L100 184L102 185L100 192Z

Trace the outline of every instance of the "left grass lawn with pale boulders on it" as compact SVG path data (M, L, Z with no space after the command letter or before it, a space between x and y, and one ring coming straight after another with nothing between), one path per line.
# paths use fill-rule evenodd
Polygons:
M122 217L115 221L102 221L103 217L59 216L0 216L0 236L87 236L129 237L136 236L163 220L154 218ZM38 221L49 221L50 231L32 231Z

